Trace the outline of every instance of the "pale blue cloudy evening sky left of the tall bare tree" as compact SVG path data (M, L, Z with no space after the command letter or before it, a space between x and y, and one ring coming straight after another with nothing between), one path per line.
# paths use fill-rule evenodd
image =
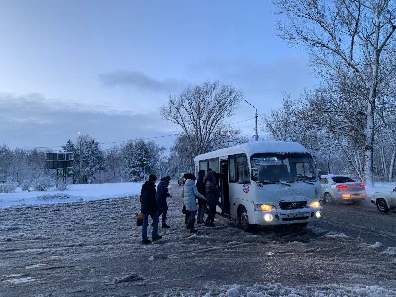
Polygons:
M276 36L274 11L270 0L1 0L0 144L174 134L159 107L205 80L243 89L259 113L296 98L315 77L306 52ZM231 121L253 116L243 102Z

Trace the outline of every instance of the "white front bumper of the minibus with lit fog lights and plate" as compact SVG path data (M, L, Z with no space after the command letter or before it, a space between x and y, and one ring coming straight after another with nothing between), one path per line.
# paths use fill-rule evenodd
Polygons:
M323 220L323 208L303 208L289 211L254 212L254 223L256 225L272 226L319 222Z

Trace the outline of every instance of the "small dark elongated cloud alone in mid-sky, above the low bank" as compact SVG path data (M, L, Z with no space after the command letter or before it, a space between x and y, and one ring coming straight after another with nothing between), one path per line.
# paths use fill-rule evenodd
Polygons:
M99 81L108 87L131 87L139 91L177 92L187 83L176 79L158 80L140 71L115 70L99 74Z

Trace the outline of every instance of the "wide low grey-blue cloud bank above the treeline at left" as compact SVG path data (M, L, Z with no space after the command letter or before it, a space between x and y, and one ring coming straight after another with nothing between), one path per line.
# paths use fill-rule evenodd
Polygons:
M175 133L157 109L150 113L106 113L81 104L60 102L32 93L23 96L0 95L0 144L10 147L45 147L76 139L76 131L89 134L99 142L123 141ZM174 138L155 139L170 146ZM113 144L103 145L109 148Z

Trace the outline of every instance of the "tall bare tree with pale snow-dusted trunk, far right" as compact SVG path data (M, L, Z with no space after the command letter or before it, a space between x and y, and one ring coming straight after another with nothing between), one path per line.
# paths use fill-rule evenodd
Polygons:
M354 85L350 92L364 102L364 178L373 184L375 111L379 84L391 71L384 64L395 50L395 1L278 0L275 5L286 18L278 22L280 36L305 45L322 78L347 81L345 87Z

